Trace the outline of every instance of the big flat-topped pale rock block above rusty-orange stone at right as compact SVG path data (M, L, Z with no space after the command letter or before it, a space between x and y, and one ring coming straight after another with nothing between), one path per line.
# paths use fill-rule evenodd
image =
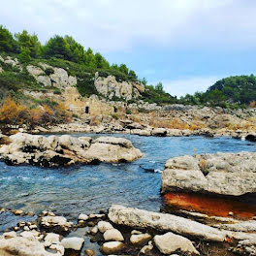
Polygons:
M166 162L162 193L193 191L240 196L256 192L256 153L180 156Z

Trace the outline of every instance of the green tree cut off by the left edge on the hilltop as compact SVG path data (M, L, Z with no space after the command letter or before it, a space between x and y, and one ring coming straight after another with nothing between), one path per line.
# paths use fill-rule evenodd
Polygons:
M12 33L0 25L0 51L17 52L16 41Z

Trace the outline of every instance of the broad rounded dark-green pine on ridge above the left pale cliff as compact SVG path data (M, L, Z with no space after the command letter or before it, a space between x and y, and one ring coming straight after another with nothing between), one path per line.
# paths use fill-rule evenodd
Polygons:
M44 48L46 58L56 57L71 60L71 50L67 41L61 36L54 36L48 40Z

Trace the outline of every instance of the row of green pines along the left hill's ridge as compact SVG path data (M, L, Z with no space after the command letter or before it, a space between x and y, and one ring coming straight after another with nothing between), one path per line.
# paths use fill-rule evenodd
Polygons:
M128 78L137 80L135 71L125 64L110 64L99 52L83 48L71 36L55 35L42 45L36 34L30 35L26 30L13 35L6 27L0 25L0 52L15 53L20 62L29 62L32 58L59 58L84 65L91 69L113 70L121 72Z

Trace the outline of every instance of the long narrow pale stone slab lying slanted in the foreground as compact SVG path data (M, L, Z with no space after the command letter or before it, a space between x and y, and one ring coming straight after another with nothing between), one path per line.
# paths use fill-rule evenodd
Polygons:
M199 237L204 240L223 241L226 238L225 232L197 221L144 209L113 205L109 210L109 218L117 225L131 228L171 231L179 235Z

